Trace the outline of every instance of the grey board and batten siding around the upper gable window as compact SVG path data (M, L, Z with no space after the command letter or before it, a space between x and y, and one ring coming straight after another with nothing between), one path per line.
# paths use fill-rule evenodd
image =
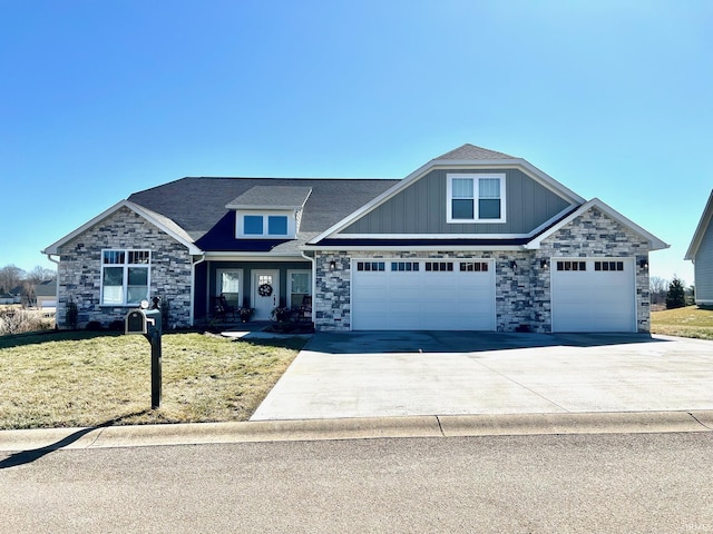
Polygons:
M447 175L490 172L506 177L506 222L446 222ZM528 234L568 206L567 200L519 169L434 169L342 234Z

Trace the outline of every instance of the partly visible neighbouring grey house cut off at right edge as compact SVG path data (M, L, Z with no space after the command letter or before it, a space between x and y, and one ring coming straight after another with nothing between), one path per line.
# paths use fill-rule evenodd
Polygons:
M685 259L693 261L695 278L695 304L713 307L713 191L703 209Z

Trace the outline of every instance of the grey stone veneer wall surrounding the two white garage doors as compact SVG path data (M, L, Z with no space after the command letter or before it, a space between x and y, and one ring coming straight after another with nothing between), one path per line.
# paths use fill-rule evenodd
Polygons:
M445 258L495 259L496 328L515 332L520 327L534 332L551 332L550 268L557 257L632 257L636 269L636 317L639 332L648 332L649 290L648 269L639 261L648 261L648 244L615 220L593 208L575 218L555 235L545 239L537 250L520 251L330 251L318 253L314 324L318 330L349 330L351 328L351 258ZM540 261L545 259L547 267ZM330 270L334 261L336 268ZM515 261L516 267L512 267Z

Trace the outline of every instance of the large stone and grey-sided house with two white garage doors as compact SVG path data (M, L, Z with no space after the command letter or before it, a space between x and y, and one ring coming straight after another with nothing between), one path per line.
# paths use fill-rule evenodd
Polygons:
M667 247L528 161L463 145L403 179L183 178L138 191L45 254L58 320L169 326L214 297L270 318L312 296L318 330L648 332L648 253Z

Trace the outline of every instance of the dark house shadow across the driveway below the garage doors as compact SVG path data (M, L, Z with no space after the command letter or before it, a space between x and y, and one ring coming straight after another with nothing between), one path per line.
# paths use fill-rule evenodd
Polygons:
M496 332L320 332L304 347L326 354L477 353L533 347L602 347L667 343L649 334L519 334Z

